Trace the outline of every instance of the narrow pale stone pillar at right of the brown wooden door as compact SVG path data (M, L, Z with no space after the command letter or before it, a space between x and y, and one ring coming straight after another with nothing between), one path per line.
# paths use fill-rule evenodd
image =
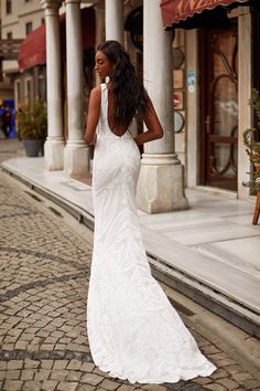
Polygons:
M249 7L241 7L238 17L238 198L247 199L249 188L242 186L250 176L250 161L242 141L242 134L252 127L251 97L252 78L251 14ZM245 61L248 59L248 61Z

